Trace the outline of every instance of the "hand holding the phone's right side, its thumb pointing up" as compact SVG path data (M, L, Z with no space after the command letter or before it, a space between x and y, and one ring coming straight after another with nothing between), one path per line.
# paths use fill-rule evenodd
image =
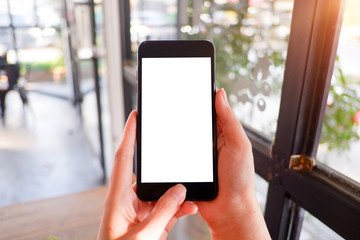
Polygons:
M215 97L219 193L198 202L212 239L270 239L255 197L251 143L230 108L224 89Z

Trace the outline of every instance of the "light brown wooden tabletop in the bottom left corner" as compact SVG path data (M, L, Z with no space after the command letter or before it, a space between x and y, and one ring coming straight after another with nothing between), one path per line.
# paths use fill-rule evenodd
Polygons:
M107 186L0 208L0 240L96 239Z

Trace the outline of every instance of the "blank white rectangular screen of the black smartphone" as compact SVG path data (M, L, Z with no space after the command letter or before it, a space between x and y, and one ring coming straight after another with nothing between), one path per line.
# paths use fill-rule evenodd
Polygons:
M141 181L213 182L211 58L142 58L141 71Z

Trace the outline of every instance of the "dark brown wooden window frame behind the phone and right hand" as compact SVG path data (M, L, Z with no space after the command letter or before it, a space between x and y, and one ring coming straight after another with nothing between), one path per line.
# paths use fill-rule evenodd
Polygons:
M120 16L126 36L122 46L127 116L136 101L136 69L126 64L131 56L130 36L125 35L130 32L130 6L124 2ZM256 173L269 182L265 220L273 239L299 239L304 210L346 239L360 236L358 182L316 161L312 171L289 169L292 155L316 157L344 5L345 0L294 0L275 140L244 125Z

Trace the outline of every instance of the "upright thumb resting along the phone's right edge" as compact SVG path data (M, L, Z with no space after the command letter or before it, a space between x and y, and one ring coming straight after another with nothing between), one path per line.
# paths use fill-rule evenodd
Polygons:
M225 144L243 144L247 142L247 137L239 120L232 111L224 89L220 89L215 96L215 109L217 119L220 122L224 133Z

